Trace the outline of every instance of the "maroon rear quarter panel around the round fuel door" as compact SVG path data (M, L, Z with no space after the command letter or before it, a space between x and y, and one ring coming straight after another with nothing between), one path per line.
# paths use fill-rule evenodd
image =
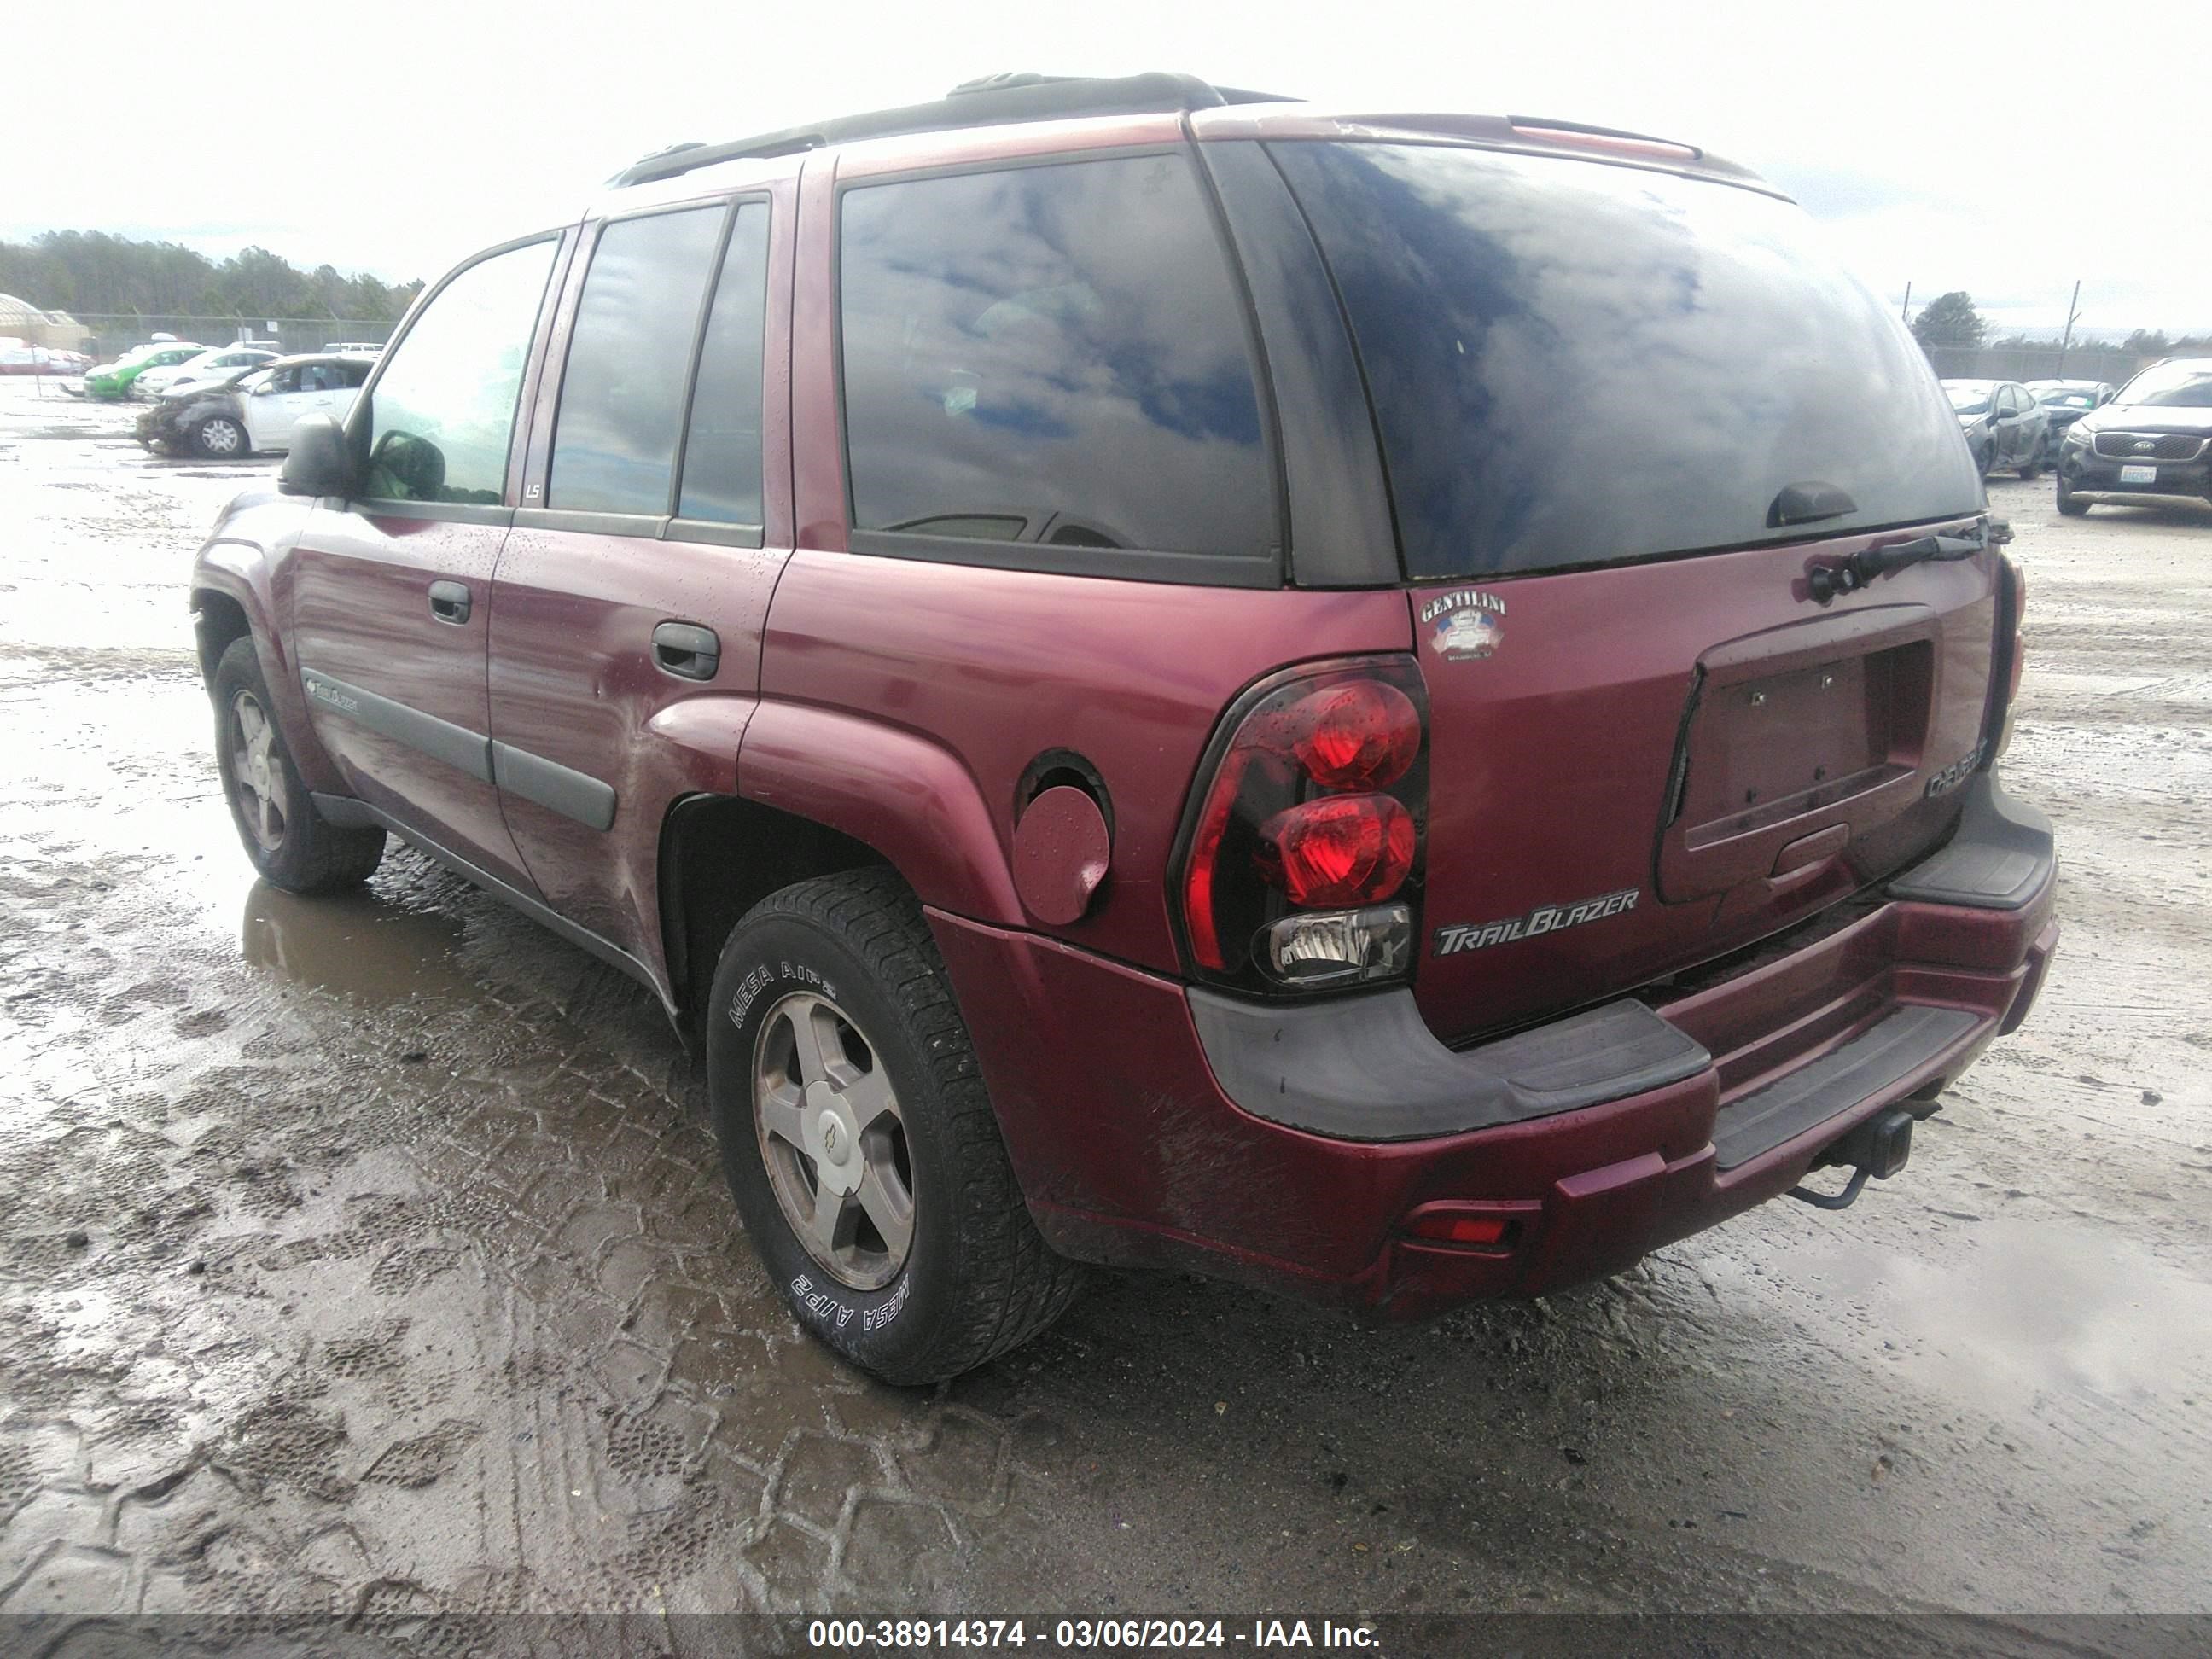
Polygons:
M1172 971L1168 860L1221 710L1283 664L1409 644L1396 591L1203 588L801 549L768 617L739 779L748 796L867 841L929 905ZM1020 785L1046 750L1097 770L1115 825L1106 883L1066 927L1024 914L1006 876ZM856 770L909 787L854 792Z

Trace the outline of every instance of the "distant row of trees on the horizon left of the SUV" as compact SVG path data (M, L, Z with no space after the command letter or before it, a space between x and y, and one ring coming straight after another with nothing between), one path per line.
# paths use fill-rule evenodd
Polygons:
M175 241L49 230L0 241L0 294L77 316L330 316L396 323L420 281L301 270L268 248L215 261Z

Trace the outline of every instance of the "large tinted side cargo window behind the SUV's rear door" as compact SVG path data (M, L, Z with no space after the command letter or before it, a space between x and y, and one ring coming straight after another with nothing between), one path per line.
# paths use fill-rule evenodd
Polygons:
M854 526L1267 555L1243 307L1181 155L845 192Z

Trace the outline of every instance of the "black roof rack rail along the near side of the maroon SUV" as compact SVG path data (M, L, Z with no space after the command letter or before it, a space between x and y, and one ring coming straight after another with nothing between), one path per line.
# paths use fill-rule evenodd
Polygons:
M779 133L728 144L672 144L644 161L624 168L608 184L617 190L655 179L675 179L695 168L734 161L739 157L796 155L825 144L900 133L940 133L960 126L1004 126L1011 122L1051 122L1068 115L1161 115L1219 104L1279 104L1274 93L1250 93L1239 86L1212 86L1197 75L984 75L951 88L936 104L841 115L814 126L785 126Z

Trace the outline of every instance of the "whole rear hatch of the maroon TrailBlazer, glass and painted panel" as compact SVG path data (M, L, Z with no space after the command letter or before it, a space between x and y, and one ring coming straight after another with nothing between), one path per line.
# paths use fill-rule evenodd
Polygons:
M1376 407L1429 690L1416 993L1453 1040L1790 927L1933 847L1995 551L1807 580L1982 487L1905 330L1759 190L1270 146Z

